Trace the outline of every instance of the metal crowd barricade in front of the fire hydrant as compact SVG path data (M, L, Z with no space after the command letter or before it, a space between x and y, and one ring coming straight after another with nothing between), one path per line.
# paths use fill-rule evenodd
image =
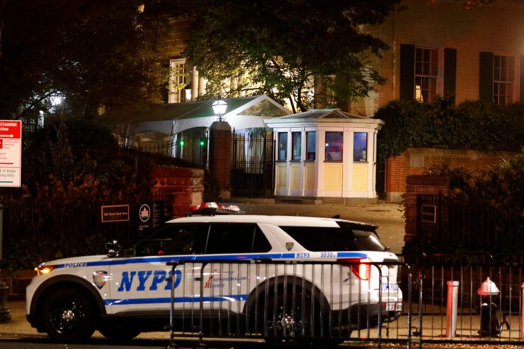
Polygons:
M522 258L430 256L418 276L413 334L419 348L423 343L522 344L523 267Z

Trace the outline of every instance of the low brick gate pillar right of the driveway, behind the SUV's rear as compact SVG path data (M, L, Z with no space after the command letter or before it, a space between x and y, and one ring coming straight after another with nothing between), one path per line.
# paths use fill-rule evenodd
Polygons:
M442 191L443 195L447 195L450 190L449 183L450 178L447 176L412 175L406 177L405 242L417 235L417 194L439 194Z

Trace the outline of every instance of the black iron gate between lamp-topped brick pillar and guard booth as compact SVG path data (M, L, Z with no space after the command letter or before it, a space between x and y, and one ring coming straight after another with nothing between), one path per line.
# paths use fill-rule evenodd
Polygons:
M275 188L275 140L272 132L231 140L231 196L269 198Z

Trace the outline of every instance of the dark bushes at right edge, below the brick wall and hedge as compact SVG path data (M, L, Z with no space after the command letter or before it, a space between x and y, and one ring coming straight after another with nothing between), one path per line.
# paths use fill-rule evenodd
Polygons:
M471 172L445 162L428 167L425 173L450 177L451 190L443 208L450 225L461 222L460 233L471 235L474 243L465 244L458 239L443 242L417 234L406 242L403 254L489 253L499 258L524 247L524 151L487 170Z

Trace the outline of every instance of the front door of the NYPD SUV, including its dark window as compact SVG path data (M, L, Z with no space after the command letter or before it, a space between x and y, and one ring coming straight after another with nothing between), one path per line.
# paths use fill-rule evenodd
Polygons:
M198 309L200 266L191 260L204 252L208 230L206 223L165 224L139 241L128 258L115 260L110 268L111 313L147 311L150 316L168 319L171 287L176 310ZM180 264L167 265L174 260ZM173 277L168 278L173 270ZM195 295L196 300L191 301Z

